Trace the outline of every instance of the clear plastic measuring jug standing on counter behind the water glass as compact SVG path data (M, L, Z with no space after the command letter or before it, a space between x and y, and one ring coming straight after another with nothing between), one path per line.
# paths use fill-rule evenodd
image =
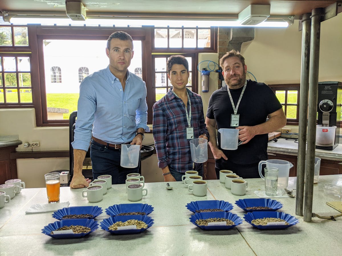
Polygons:
M266 164L267 168L278 168L278 188L286 188L289 183L289 173L290 168L293 167L292 163L286 160L279 159L268 159L266 161L259 162L259 175L262 179L265 179L264 175L262 175L262 165Z

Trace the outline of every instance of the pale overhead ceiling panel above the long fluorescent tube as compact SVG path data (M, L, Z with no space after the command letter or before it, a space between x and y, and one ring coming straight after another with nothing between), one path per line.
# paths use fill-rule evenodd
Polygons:
M67 0L70 1L70 0ZM130 17L232 17L250 4L271 5L272 15L295 16L310 13L312 9L326 7L336 0L73 0L82 2L87 16L127 15ZM1 0L0 11L9 13L63 13L65 0Z

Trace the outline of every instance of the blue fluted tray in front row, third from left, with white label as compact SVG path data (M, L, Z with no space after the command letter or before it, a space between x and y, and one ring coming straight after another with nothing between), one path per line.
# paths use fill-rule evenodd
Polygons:
M226 218L230 219L233 221L235 224L234 225L223 225L223 226L199 226L196 224L197 219L208 219L208 218ZM200 213L195 213L194 215L191 215L189 218L190 222L196 225L197 227L200 227L201 229L204 230L226 230L226 229L231 229L237 225L240 225L242 223L242 219L237 216L234 213L231 212L200 212Z

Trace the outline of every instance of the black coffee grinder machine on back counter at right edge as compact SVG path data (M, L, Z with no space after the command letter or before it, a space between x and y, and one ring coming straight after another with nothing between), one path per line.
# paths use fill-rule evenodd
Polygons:
M341 82L318 83L316 148L333 150L339 144L341 99Z

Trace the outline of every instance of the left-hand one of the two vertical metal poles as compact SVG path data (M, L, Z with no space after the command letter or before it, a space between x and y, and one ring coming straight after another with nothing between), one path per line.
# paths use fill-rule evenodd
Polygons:
M297 162L297 188L295 213L303 216L304 201L304 175L306 155L306 128L307 128L307 104L309 91L309 67L310 67L310 29L311 13L303 14L302 22L302 65L300 81L300 105L299 105L299 137L298 137L298 162Z

